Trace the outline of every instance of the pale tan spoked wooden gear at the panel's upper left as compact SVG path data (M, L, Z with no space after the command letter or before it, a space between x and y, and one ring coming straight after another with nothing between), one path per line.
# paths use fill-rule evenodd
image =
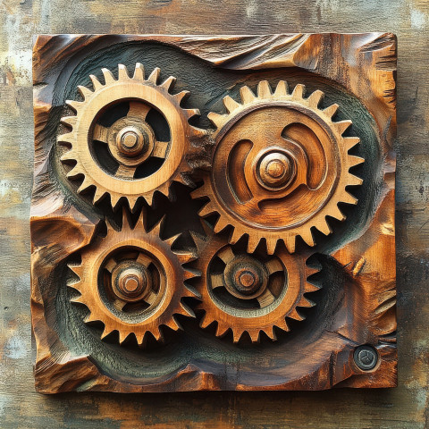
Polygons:
M181 100L189 92L170 94L175 78L171 76L157 85L159 68L152 71L147 80L140 63L136 64L132 77L124 65L119 64L118 69L117 80L111 71L102 69L104 85L91 75L93 91L78 87L84 99L66 102L76 115L63 117L61 121L70 126L71 131L61 135L58 141L71 145L71 150L61 160L66 163L76 162L67 177L77 179L83 176L78 192L94 186L94 204L109 194L113 207L124 197L132 210L139 197L145 198L151 205L156 190L167 195L172 181L189 182L187 174L191 167L186 159L199 152L192 142L203 137L206 131L189 124L189 119L199 114L198 109L181 108ZM97 123L108 107L124 101L130 103L130 110L125 117L110 127ZM152 108L162 114L168 123L169 141L158 141L147 122L147 114ZM118 165L114 172L97 160L94 140L107 145L108 153ZM164 162L155 172L136 178L138 167L154 157L160 161L164 159Z

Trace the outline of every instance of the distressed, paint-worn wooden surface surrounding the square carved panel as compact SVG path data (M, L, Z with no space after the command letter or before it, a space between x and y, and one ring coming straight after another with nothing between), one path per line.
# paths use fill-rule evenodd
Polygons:
M29 320L32 34L375 30L399 37L400 387L323 393L37 394ZM429 427L428 30L426 0L0 0L0 427Z

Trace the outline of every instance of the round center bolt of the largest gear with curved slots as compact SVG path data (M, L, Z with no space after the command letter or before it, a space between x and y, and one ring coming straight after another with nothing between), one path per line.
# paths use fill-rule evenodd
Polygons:
M286 188L295 177L295 163L289 153L274 150L264 153L257 162L257 181L269 190Z

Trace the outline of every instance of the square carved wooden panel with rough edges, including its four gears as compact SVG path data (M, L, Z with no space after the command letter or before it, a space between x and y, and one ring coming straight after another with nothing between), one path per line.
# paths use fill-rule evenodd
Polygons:
M393 35L39 36L33 61L38 391L396 384Z

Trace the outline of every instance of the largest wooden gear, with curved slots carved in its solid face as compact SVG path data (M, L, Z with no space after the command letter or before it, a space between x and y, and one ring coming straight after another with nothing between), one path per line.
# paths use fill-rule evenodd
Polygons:
M346 187L362 183L349 169L364 159L349 155L359 139L342 137L351 121L332 122L338 105L322 110L324 93L304 92L297 85L290 94L280 81L273 93L263 80L257 96L240 88L241 104L227 96L229 113L208 115L212 170L192 196L210 199L200 215L219 214L214 231L231 225L231 243L248 234L249 252L262 239L269 254L278 240L294 252L297 236L314 246L312 227L328 235L327 215L345 219L338 203L357 204Z

